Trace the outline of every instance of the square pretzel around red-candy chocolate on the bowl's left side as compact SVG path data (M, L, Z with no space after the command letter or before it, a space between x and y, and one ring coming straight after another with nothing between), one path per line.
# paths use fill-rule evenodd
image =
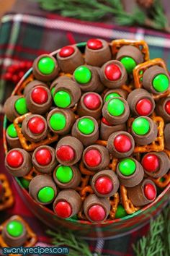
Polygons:
M30 116L31 113L24 114L23 116L19 116L16 119L14 119L14 127L17 131L17 135L19 137L19 141L22 145L22 148L27 151L33 151L35 148L40 147L41 145L49 145L52 142L55 142L58 140L58 135L53 133L52 131L48 132L47 137L45 140L41 140L40 142L30 142L28 141L24 135L22 134L22 128L19 127L19 124L22 124L22 121L27 117Z

